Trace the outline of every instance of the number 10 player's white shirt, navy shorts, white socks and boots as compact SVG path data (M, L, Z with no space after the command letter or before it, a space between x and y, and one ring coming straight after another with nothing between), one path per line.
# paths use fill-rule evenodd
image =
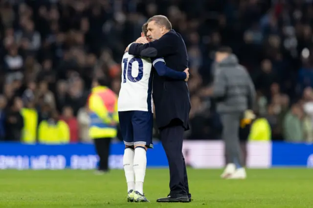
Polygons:
M153 148L153 71L150 59L125 53L122 60L122 83L118 96L118 118L126 148L123 166L127 181L127 200L148 201L143 194L147 156L144 145Z

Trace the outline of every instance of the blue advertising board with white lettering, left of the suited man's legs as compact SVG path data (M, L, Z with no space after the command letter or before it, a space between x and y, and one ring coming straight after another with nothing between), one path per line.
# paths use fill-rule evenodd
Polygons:
M109 166L123 168L124 144L112 144ZM23 145L0 143L0 169L94 169L98 163L92 144ZM147 166L168 166L162 145L147 151Z

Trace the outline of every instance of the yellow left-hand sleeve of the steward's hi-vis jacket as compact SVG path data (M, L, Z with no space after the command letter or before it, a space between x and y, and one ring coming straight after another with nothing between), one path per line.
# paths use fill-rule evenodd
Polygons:
M99 118L106 124L111 124L112 118L108 113L107 108L104 106L101 98L98 95L92 94L89 98L89 109L93 111Z

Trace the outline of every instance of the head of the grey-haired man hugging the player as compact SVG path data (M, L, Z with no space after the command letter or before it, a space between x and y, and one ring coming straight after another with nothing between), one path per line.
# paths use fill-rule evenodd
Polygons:
M156 15L148 21L147 36L153 40L161 38L165 33L172 29L171 22L163 15Z

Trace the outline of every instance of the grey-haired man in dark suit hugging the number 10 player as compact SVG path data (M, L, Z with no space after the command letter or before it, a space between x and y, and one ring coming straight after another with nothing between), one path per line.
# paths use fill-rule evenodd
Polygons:
M184 71L188 67L185 43L172 29L171 22L161 15L148 20L147 36L139 38L129 47L129 54L141 57L163 57L168 67ZM145 44L142 44L145 43ZM182 140L189 129L190 99L185 81L171 80L154 73L153 100L156 124L160 131L170 169L170 194L157 202L190 202L186 165L182 155Z

